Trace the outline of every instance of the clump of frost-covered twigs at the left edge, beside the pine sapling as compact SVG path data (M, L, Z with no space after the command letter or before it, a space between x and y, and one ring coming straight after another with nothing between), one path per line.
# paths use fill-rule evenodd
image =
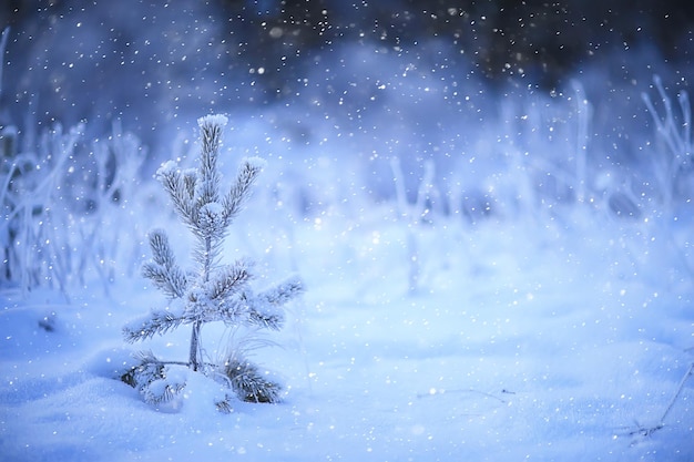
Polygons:
M119 254L130 247L123 228L134 225L122 219L123 204L134 193L143 152L134 136L118 129L85 148L84 132L84 124L70 130L57 124L41 134L35 152L3 152L2 278L23 292L58 287L69 299L75 285L84 287L95 274L108 294ZM122 138L127 143L115 141Z

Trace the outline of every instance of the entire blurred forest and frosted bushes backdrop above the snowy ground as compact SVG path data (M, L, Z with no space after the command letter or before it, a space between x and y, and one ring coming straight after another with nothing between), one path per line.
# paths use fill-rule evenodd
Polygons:
M0 24L0 238L23 286L136 267L116 254L150 214L109 223L156 202L153 172L192 160L215 112L295 218L390 202L551 223L588 204L672 234L694 194L687 2L10 0Z

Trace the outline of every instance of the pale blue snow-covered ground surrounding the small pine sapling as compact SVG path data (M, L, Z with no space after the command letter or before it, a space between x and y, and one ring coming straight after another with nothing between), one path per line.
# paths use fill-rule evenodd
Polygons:
M282 348L257 351L286 384L280 404L221 414L193 380L178 409L157 411L114 380L140 348L121 327L162 301L136 276L70 305L2 292L0 459L694 460L694 378L664 428L629 435L659 423L694 361L692 280L660 236L594 214L426 225L408 294L406 226L375 216L249 236L274 243L265 268L308 287L268 337ZM143 347L184 359L187 340L182 328Z

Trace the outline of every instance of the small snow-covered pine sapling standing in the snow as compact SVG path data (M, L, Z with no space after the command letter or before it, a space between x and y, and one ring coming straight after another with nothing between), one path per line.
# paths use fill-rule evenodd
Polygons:
M279 384L267 380L238 348L232 348L223 363L205 361L203 357L203 325L221 321L232 329L249 326L277 330L284 322L282 306L303 291L302 280L290 277L267 290L254 292L249 286L251 260L221 261L228 227L265 164L257 157L243 160L231 187L225 194L220 191L217 158L226 121L223 115L198 120L197 168L182 171L175 163L167 162L157 171L159 181L180 219L193 233L196 245L195 267L184 270L176 263L166 233L155 229L150 234L152 260L143 266L143 275L166 296L169 304L127 324L123 329L125 340L145 340L183 325L192 329L187 361L163 361L150 352L141 353L139 365L123 374L122 380L137 388L151 403L167 401L185 388L184 374L171 371L182 366L222 381L245 401L275 402L279 398ZM217 408L228 410L228 397L218 401Z

